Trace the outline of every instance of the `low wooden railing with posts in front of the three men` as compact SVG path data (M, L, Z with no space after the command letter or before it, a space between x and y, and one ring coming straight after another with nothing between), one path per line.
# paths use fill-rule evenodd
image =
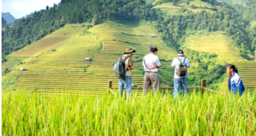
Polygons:
M152 89L153 87L151 87ZM206 88L206 80L205 79L202 79L201 81L201 86L200 87L187 87L188 89L190 88L201 88L201 94L203 95L203 93L205 92L205 90L208 90L210 92L215 92L215 93L218 93L218 94L221 94L221 95L224 95L226 96L226 94L224 93L221 93L221 92L218 92L218 91L214 91L214 90L211 90L211 89L208 89ZM114 94L114 95L117 95L112 89L118 89L118 88L112 88L112 80L109 80L108 81L108 91L109 91L109 94ZM125 88L124 88L125 89ZM137 89L137 90L141 90L143 89L143 87L132 87L132 89ZM159 89L174 89L174 87L160 87L159 86ZM126 96L126 92L124 93L124 95Z

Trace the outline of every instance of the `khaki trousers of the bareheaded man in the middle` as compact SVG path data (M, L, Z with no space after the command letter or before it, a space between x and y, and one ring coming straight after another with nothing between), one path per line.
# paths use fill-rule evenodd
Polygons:
M148 89L151 88L151 85L153 87L152 95L154 96L154 92L157 93L159 89L159 78L158 73L154 72L145 72L144 75L144 83L143 83L143 92L144 95L147 94Z

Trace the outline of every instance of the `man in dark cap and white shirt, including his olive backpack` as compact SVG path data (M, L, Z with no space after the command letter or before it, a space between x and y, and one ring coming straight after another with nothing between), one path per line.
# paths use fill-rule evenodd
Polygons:
M174 97L177 97L177 95L180 93L180 86L183 90L183 97L185 93L187 94L187 77L188 72L187 68L190 68L190 63L188 59L186 58L186 55L184 55L183 50L178 50L176 58L172 61L172 66L175 69L174 72Z

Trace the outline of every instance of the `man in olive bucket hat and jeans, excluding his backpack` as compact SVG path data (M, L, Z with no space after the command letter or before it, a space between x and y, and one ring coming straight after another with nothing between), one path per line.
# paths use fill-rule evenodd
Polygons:
M127 90L127 98L131 98L131 90L132 90L132 83L131 83L131 77L132 77L132 73L131 73L131 69L135 68L135 62L132 62L131 57L133 55L133 53L135 52L135 50L133 50L132 48L128 48L125 50L124 55L119 58L124 60L126 57L127 60L125 60L125 79L119 79L119 92L121 93L121 96L123 96L123 90L124 90L124 86Z

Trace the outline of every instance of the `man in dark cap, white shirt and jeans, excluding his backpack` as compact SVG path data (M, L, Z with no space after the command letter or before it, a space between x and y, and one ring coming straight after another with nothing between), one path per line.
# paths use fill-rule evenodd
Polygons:
M179 50L177 52L177 55L178 57L175 57L172 61L172 66L174 67L175 69L175 72L174 72L174 97L176 97L179 93L180 93L180 86L181 86L181 89L183 90L183 97L185 95L185 92L187 94L187 77L188 77L188 72L186 72L186 76L185 77L179 77L179 75L176 74L177 72L177 69L179 69L179 66L180 66L180 63L184 62L184 59L185 60L185 64L187 65L187 68L190 68L190 63L188 61L188 59L186 58L186 55L184 55L183 51L182 50ZM179 61L179 59L180 61Z

